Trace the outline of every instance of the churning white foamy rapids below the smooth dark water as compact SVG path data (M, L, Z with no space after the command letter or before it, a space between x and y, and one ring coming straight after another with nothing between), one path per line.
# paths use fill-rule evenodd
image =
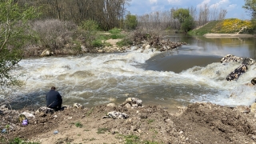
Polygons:
M214 62L205 67L194 66L180 74L144 70L142 65L154 54L159 52L151 49L142 52L133 47L120 54L24 59L14 74L22 74L19 79L26 85L16 88L15 93L27 95L38 91L43 94L50 86L56 86L70 102L82 103L94 99L98 100L94 103L102 104L109 102L110 97L126 98L124 94L146 95L152 101L174 99L230 106L248 106L254 102L254 86L245 84L256 75L255 65L250 66L238 81L227 82L226 76L239 66L238 63Z

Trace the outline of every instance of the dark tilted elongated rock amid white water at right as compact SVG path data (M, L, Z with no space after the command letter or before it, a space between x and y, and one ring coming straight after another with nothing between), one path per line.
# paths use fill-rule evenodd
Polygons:
M240 75L242 75L243 73L245 73L248 70L248 67L245 64L242 64L241 66L239 66L238 68L236 68L235 70L233 70L227 77L226 80L227 81L237 81L238 78L240 77Z

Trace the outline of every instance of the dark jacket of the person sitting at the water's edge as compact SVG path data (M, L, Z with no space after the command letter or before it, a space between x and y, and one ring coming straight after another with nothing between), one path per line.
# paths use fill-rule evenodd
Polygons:
M50 108L56 108L57 106L62 106L62 96L58 91L50 90L46 94L46 106Z

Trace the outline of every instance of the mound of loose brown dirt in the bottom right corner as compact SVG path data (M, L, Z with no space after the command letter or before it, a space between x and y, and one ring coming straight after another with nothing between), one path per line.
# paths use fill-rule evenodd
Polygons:
M189 143L252 143L255 138L251 114L210 103L188 106L174 124Z

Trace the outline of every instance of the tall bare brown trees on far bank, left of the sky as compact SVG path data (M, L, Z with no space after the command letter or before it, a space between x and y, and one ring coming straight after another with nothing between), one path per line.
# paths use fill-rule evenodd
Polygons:
M122 27L130 0L14 0L20 6L35 6L41 19L59 19L80 24L94 20L102 30Z

